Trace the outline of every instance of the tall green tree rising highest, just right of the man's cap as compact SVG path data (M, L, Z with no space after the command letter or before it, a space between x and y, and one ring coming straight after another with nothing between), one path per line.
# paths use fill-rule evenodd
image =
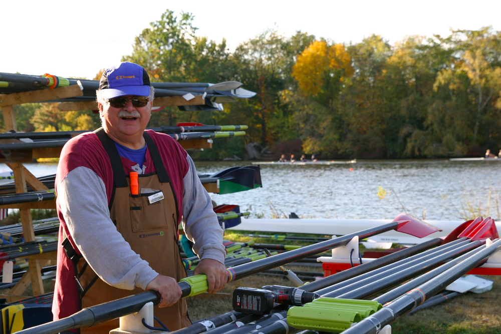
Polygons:
M193 16L179 16L167 10L161 19L150 24L136 37L133 52L123 57L142 65L152 82L217 83L231 80L226 42L220 44L195 35ZM166 108L153 113L150 126L175 125L178 121L206 122L207 113L181 113L178 108ZM201 119L200 119L201 118ZM209 122L210 123L210 122Z

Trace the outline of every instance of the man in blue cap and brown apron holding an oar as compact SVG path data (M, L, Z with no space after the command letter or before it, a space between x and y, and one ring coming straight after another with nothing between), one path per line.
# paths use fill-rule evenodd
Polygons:
M178 224L194 241L201 258L195 274L207 275L208 292L227 281L222 229L186 151L168 135L145 131L154 96L146 71L128 62L109 68L96 95L102 129L71 139L58 165L54 319L156 290L155 316L169 330L182 328L190 321L177 284L186 276ZM118 325L81 330L107 333Z

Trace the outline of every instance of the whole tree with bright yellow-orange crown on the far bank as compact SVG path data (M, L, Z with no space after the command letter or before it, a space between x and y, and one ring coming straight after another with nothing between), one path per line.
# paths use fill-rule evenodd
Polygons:
M342 116L339 96L354 73L352 60L341 44L314 41L297 57L292 76L298 83L295 118L306 153L335 154L341 148Z

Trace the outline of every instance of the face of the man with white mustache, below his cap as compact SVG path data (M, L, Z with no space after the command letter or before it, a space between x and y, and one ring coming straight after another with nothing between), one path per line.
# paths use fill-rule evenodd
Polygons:
M111 137L128 143L142 138L151 117L153 102L148 102L144 107L135 107L131 101L133 96L125 98L127 98L127 102L122 107L114 107L108 102L100 105L99 109L106 132Z

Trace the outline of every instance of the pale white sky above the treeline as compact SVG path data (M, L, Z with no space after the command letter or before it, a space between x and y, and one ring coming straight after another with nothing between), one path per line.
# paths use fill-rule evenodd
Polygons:
M93 79L119 63L166 10L192 14L198 36L225 38L230 51L268 29L347 44L377 34L391 45L405 36L446 37L451 29L501 31L499 0L19 0L1 8L0 73L65 78Z

